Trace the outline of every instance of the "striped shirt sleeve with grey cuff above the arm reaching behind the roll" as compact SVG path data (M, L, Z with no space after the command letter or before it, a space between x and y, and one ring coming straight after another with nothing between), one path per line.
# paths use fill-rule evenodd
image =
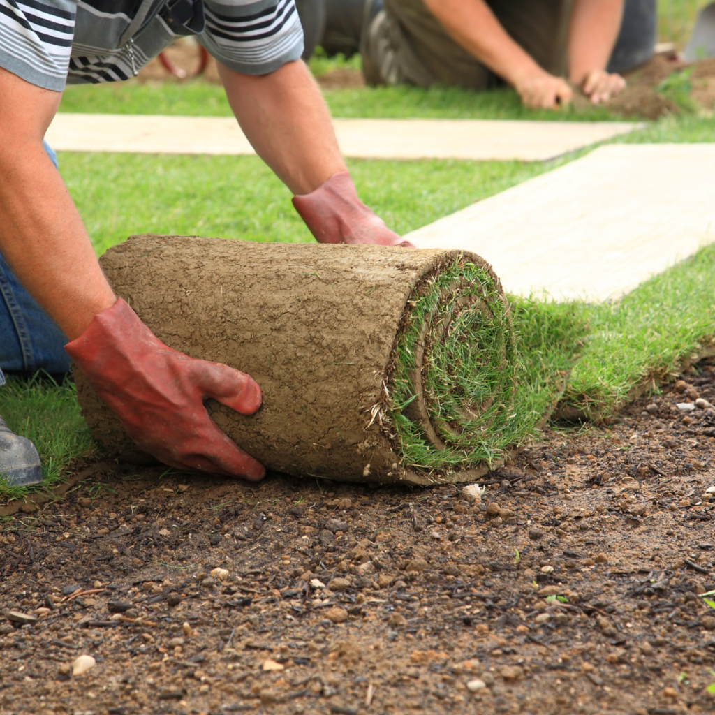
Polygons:
M199 41L238 72L267 74L303 53L294 0L204 0L204 13Z

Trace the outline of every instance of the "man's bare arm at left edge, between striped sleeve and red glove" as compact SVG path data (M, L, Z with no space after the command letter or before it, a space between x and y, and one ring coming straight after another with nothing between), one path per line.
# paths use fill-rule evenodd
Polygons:
M60 97L0 69L0 251L72 340L115 299L42 146Z

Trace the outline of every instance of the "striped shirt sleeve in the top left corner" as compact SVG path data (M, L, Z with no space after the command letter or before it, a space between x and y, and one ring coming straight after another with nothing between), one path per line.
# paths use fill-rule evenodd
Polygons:
M76 11L76 0L0 0L0 66L61 92Z

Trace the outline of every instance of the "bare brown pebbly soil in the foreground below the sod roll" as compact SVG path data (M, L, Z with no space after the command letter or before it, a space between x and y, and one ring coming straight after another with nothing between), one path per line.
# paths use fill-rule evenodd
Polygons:
M690 370L715 402L712 362ZM710 712L715 410L676 407L695 396L547 429L480 502L99 463L1 523L0 712Z

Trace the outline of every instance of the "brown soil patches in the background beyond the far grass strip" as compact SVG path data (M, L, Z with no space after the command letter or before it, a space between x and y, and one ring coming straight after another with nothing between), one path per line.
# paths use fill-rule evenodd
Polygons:
M170 59L189 73L189 78L194 74L199 64L197 45L191 40L181 40L167 49ZM696 69L691 76L691 98L702 109L715 109L715 58L696 62ZM614 113L623 117L642 117L644 119L658 119L667 114L679 114L678 105L655 91L655 87L669 74L680 71L688 64L679 60L676 54L662 53L654 56L651 61L638 69L628 72L626 80L628 87L608 102L608 107ZM207 82L219 82L216 62L209 59L204 78ZM141 72L140 82L185 82L176 79L159 62L152 60ZM334 69L317 78L322 89L355 89L365 87L363 74L355 69ZM586 107L588 99L581 94L576 94L574 99L576 108Z

